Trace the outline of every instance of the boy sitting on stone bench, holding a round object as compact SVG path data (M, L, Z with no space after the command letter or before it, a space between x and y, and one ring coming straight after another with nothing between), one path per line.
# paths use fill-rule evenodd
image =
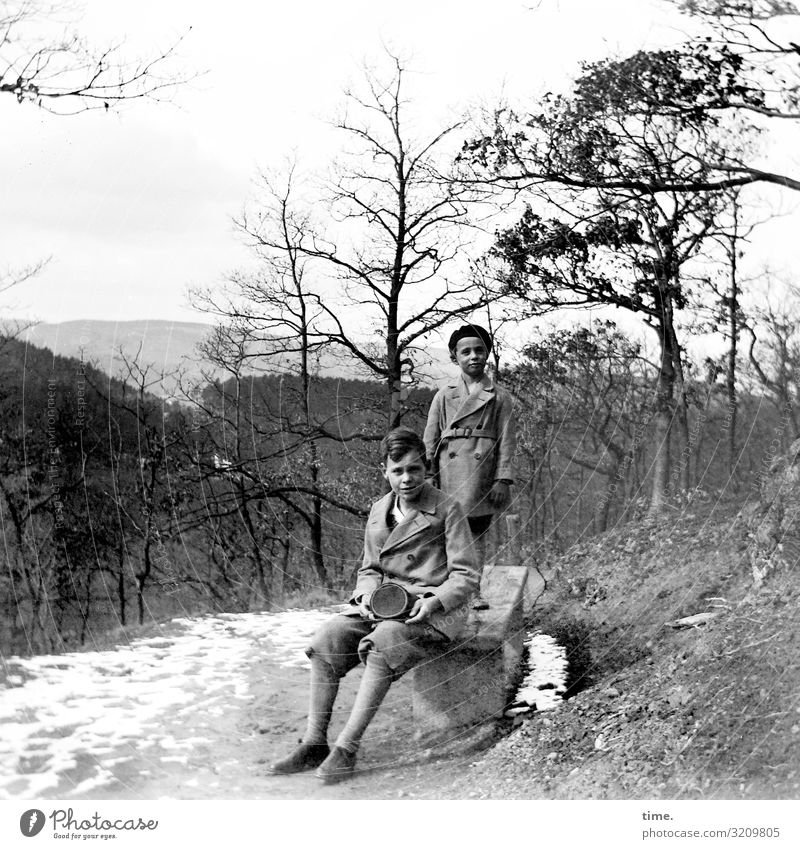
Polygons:
M352 609L326 622L306 654L311 659L308 725L299 747L272 765L273 774L317 770L326 784L349 778L361 737L389 686L442 652L458 635L478 588L472 535L462 509L426 482L422 439L396 428L381 442L381 469L391 492L372 505ZM384 581L416 597L409 617L376 620L370 595ZM328 724L339 680L359 662L364 677L350 717L332 749Z

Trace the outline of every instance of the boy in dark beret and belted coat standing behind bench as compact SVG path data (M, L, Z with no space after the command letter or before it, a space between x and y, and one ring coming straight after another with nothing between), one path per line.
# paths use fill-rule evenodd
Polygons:
M486 374L492 337L478 324L450 336L459 376L433 398L425 448L434 482L464 508L484 566L492 516L508 504L516 438L511 398ZM478 601L477 608L487 607Z

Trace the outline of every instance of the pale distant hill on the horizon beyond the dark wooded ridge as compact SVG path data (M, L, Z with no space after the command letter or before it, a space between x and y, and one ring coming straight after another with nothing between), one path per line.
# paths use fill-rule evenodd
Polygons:
M57 324L37 324L25 333L25 340L54 354L65 357L83 357L107 374L119 377L124 374L122 351L129 360L137 356L140 365L151 365L155 373L164 372L161 391L171 393L177 385L177 374L184 384L203 381L204 375L222 376L222 373L203 362L198 345L210 333L208 324L190 321L63 321ZM269 363L254 361L253 371L290 371L296 358L287 355L282 364L274 358ZM452 364L443 348L426 348L419 352L418 374L425 384L433 385L452 373ZM267 365L269 366L267 368ZM369 377L358 363L343 359L333 353L323 354L319 374L325 377L365 379ZM153 387L157 391L158 387Z

